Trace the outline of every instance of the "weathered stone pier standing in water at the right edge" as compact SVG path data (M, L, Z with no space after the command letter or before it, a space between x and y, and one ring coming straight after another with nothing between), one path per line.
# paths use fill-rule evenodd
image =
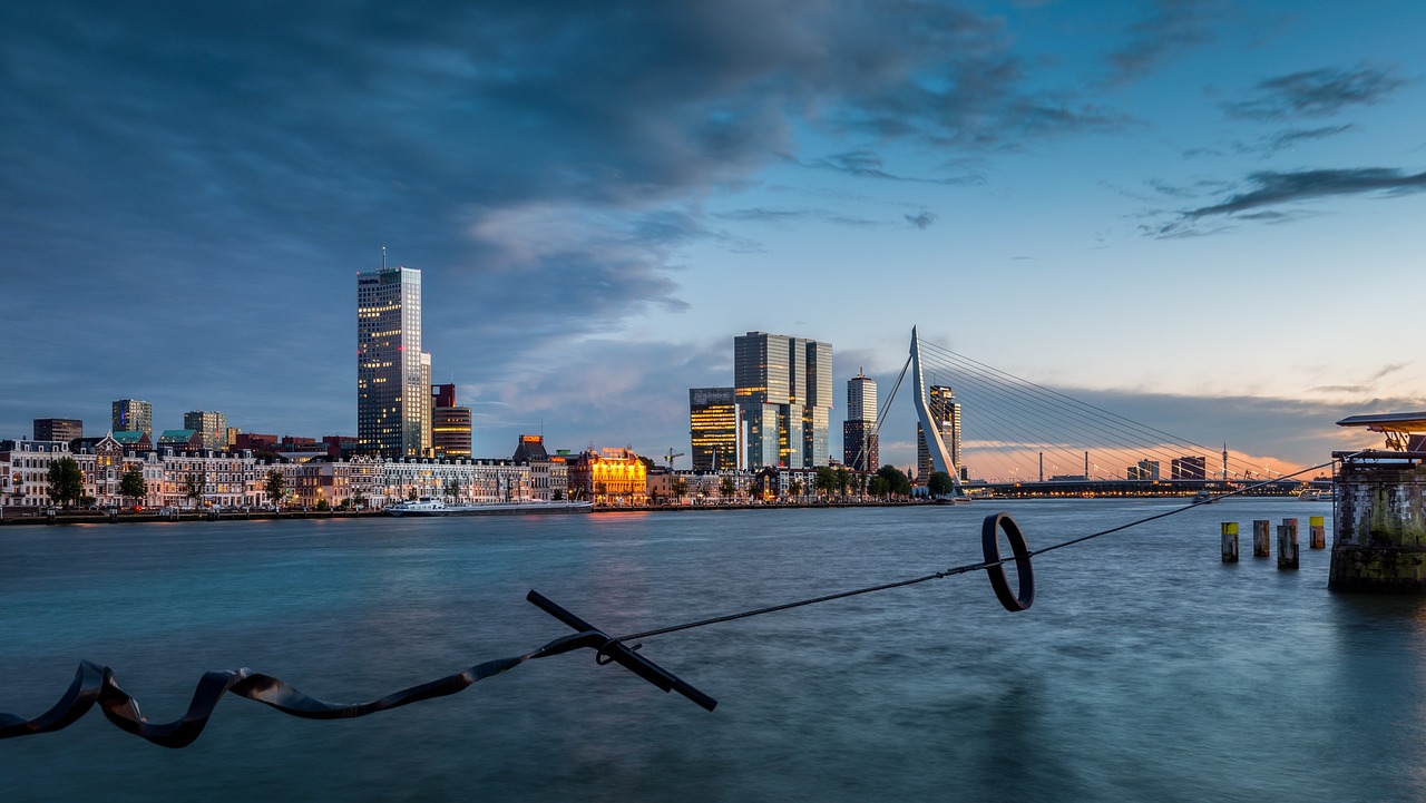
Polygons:
M1426 455L1343 456L1328 588L1426 593Z

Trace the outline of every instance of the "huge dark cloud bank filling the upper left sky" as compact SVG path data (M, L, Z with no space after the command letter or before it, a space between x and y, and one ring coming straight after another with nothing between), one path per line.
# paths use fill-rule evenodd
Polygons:
M803 127L854 143L819 167L963 183L898 175L870 145L1125 124L1030 88L1010 44L1001 20L933 3L0 4L0 240L36 271L7 288L33 302L10 322L51 331L9 387L93 385L121 358L147 371L107 395L160 397L151 377L212 364L175 408L349 429L352 274L381 245L426 271L438 374L520 371L680 308L682 247L756 248L700 204L799 153ZM47 327L50 278L91 328ZM154 319L124 321L155 302L205 314L160 315L155 345ZM254 377L327 389L279 411ZM50 415L47 392L0 419Z

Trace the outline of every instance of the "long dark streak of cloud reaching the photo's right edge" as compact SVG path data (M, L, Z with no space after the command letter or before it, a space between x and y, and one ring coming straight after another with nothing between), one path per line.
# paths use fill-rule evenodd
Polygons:
M1174 221L1145 225L1141 227L1141 231L1155 237L1186 237L1194 235L1195 223L1216 215L1281 223L1292 215L1302 215L1303 211L1283 211L1269 207L1338 195L1386 194L1393 197L1426 191L1426 173L1409 174L1383 167L1253 173L1248 181L1252 184L1252 190L1246 193L1233 194L1218 204L1179 213Z

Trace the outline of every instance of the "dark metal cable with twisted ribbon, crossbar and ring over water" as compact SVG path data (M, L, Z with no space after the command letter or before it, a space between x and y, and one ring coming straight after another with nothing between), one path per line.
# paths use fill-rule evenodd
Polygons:
M1335 461L1318 464L1315 466L1305 468L1296 474L1286 475L1286 478L1299 476L1302 474L1318 471L1320 468L1332 465L1333 462ZM1132 526L1162 519L1206 503L1212 503L1214 501L1221 499L1224 496L1246 493L1253 491L1255 488L1261 488L1262 485L1265 484L1225 492L1212 501L1194 502L1182 508L1175 508L1172 511L1156 513L1154 516L1147 516L1124 525L1102 529L1099 532L1072 538L1070 541L1064 541L1035 551L1031 551L1028 548L1025 538L1021 533L1020 526L1014 522L1014 519L1011 519L1008 513L1001 512L987 516L984 521L984 525L981 528L981 551L984 561L977 563L953 566L950 569L938 571L930 575L923 575L906 580L881 583L854 590L844 590L838 593L816 596L811 599L801 599L781 605L757 608L752 610L743 610L739 613L730 613L724 616L714 616L710 619L687 622L683 625L657 628L653 630L630 633L627 636L617 636L617 638L609 636L602 629L576 616L575 613L560 608L559 605L545 598L539 592L530 590L529 595L526 596L526 600L529 600L532 605L536 605L538 608L540 608L540 610L545 610L550 616L559 619L565 625L570 626L575 630L575 633L555 639L532 652L512 658L486 660L483 663L478 663L455 675L448 675L445 677L439 677L428 683L411 686L408 689L394 692L391 695L386 695L385 697L371 700L366 703L329 703L308 696L299 692L298 689L292 687L291 685L285 683L284 680L274 677L271 675L262 675L245 668L228 669L228 670L207 672L202 676L202 679L198 680L198 686L197 689L194 689L193 700L190 702L188 710L184 713L184 716L170 723L153 723L143 716L143 713L138 709L138 702L134 700L134 697L130 696L127 692L124 692L123 687L120 687L118 682L114 677L114 672L110 668L103 666L100 663L94 663L91 660L84 660L80 663L78 670L74 673L74 680L70 683L70 687L64 692L60 700L43 715L33 719L24 719L16 715L0 712L0 739L61 730L68 725L77 722L80 717L88 713L91 707L98 705L100 709L104 712L106 719L108 719L118 729L127 733L133 733L134 736L140 736L163 747L185 747L191 745L202 733L202 729L204 726L207 726L208 719L212 716L212 712L217 707L218 700L221 700L225 693L237 695L240 697L247 697L250 700L257 700L282 713L304 719L352 719L382 710L401 707L421 700L429 700L435 697L455 695L456 692L465 690L472 683L515 669L516 666L525 663L526 660L550 658L555 655L563 655L566 652L573 652L576 649L585 649L585 648L595 650L595 660L599 665L617 663L665 692L679 692L680 695L693 700L699 706L707 710L713 710L713 707L717 705L717 700L697 690L687 682L679 679L676 675L667 672L666 669L653 663L647 658L642 656L637 652L642 648L642 645L635 643L633 646L629 646L627 642L674 633L680 630L690 630L694 628L704 628L722 622L733 622L737 619L761 616L764 613L773 613L777 610L789 610L793 608L820 605L824 602L844 599L848 596L918 585L927 580L951 578L975 571L985 571L997 599L1007 610L1012 612L1025 610L1034 603L1035 586L1034 586L1034 569L1031 565L1031 558L1065 546L1084 543L1087 541L1101 538L1104 535L1122 532ZM1005 538L1011 546L1011 556L1008 558L1001 556L1000 553L1001 532L1005 533ZM1018 590L1011 589L1010 582L1005 576L1004 565L1007 562L1015 563Z

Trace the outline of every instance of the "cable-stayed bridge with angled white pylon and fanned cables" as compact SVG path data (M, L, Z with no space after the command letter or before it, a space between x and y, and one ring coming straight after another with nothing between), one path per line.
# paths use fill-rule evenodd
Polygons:
M1194 493L1259 482L1282 492L1303 485L1292 479L1272 488L1278 472L1226 444L1206 446L1134 421L921 339L915 328L878 426L898 392L910 395L930 468L951 476L954 496L977 489Z

